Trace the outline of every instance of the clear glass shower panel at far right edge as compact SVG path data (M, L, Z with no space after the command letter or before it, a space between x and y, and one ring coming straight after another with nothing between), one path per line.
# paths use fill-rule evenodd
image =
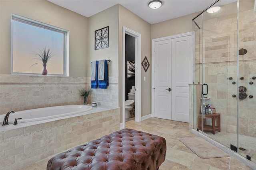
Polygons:
M238 2L238 153L256 163L256 6Z

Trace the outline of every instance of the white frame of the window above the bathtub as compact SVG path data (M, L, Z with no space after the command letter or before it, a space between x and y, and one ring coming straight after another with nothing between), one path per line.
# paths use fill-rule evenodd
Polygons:
M46 23L42 23L40 21L36 21L36 20L32 20L29 18L25 18L22 16L18 16L16 14L12 14L12 49L11 49L11 55L12 55L12 74L27 74L27 75L42 75L39 73L26 73L26 72L13 72L13 22L14 21L18 21L21 23L25 23L28 25L32 25L35 27L39 27L39 28L43 28L43 29L47 29L50 31L54 31L54 32L58 32L58 33L62 33L63 37L64 37L64 42L63 42L63 74L47 74L47 75L55 75L55 76L69 76L69 31L66 29L62 29L53 25L49 25Z

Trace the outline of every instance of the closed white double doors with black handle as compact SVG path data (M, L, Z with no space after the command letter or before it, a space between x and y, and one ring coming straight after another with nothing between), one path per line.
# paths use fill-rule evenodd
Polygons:
M152 40L152 117L189 122L192 33Z

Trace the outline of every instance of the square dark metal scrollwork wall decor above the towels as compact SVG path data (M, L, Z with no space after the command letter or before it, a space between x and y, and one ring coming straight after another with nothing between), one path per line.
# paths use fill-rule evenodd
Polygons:
M104 27L95 31L95 50L109 47L109 27Z

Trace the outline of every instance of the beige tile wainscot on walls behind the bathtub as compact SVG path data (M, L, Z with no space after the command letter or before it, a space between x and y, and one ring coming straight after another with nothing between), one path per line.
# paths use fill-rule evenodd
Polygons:
M0 114L83 104L78 89L85 86L90 87L90 78L0 74ZM88 102L118 107L118 77L109 77L107 89L93 89Z

